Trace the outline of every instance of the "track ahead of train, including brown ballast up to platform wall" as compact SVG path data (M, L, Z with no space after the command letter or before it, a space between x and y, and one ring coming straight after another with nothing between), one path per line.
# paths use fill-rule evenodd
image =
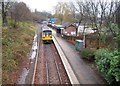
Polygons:
M70 84L64 66L60 60L58 53L56 52L55 45L45 45L45 55L47 64L48 84ZM48 57L49 55L49 57Z

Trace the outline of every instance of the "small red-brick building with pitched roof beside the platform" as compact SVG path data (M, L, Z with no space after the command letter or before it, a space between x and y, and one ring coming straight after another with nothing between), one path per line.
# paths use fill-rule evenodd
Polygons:
M64 26L63 34L67 36L76 36L77 27L74 24Z

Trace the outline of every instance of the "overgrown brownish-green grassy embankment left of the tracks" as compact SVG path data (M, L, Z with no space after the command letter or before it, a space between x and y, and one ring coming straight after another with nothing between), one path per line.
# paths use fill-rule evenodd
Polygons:
M19 23L16 29L10 27L2 29L2 83L13 83L12 72L28 57L35 32L32 23Z

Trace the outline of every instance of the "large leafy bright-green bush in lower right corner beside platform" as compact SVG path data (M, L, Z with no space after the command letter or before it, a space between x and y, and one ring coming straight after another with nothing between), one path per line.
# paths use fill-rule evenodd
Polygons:
M120 81L120 52L99 49L95 53L95 62L109 84Z

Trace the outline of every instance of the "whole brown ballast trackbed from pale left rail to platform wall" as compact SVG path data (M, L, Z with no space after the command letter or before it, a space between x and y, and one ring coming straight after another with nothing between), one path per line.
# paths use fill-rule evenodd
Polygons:
M32 84L70 85L70 80L54 43L43 44L42 40L39 43L39 54L35 61L36 66L34 68Z

